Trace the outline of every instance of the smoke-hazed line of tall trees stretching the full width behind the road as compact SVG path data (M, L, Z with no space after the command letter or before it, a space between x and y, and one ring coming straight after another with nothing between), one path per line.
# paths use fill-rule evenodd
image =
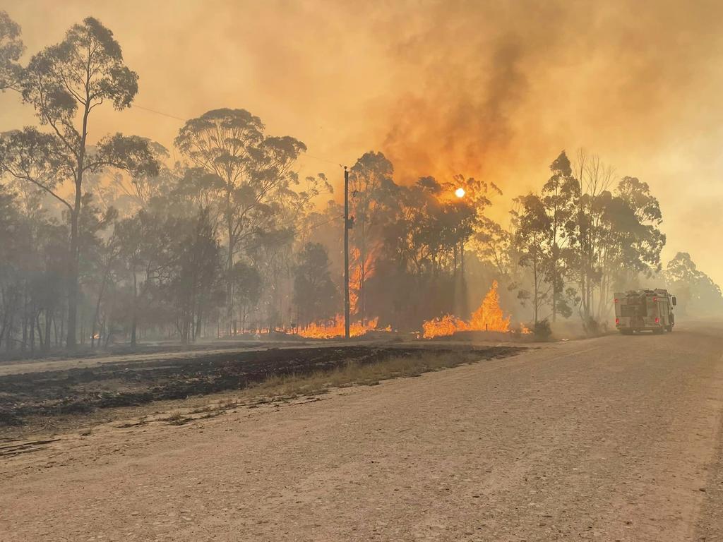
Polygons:
M96 111L138 91L111 30L89 17L23 53L0 12L0 90L37 119L0 136L0 348L192 342L341 313L343 206L323 173L299 176L304 143L230 108L186 121L176 161L140 135L97 138ZM585 152L561 152L544 177L503 226L489 218L494 183L399 184L382 152L362 155L349 171L354 318L419 330L468 316L492 280L516 319L574 317L589 332L618 289L667 283L683 311L723 306L689 254L663 268L648 184Z

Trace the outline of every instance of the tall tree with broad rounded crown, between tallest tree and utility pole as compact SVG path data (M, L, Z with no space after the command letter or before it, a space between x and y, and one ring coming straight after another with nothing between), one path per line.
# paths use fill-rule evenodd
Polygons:
M226 237L226 329L234 313L233 269L239 251L270 231L283 199L299 179L292 167L306 146L293 137L267 137L264 124L245 109L214 109L181 128L176 147L202 173ZM210 182L208 182L210 181Z

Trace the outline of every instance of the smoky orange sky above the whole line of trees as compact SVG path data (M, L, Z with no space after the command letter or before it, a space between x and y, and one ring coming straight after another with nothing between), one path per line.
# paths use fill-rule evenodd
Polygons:
M562 149L602 156L659 197L668 244L723 283L722 8L701 1L0 0L27 53L87 15L140 75L138 106L188 118L246 108L304 141L302 173L382 150L398 181L453 173L536 189ZM0 95L0 131L33 122ZM98 111L170 146L181 122Z

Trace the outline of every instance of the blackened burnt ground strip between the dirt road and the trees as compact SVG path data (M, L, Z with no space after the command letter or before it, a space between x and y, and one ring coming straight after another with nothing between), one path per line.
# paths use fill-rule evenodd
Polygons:
M243 390L269 377L304 376L344 364L373 364L390 357L453 353L459 363L498 358L521 348L354 345L269 348L210 353L189 358L158 358L133 363L0 376L0 426L21 425L30 416L90 413L95 409L145 405L228 390Z

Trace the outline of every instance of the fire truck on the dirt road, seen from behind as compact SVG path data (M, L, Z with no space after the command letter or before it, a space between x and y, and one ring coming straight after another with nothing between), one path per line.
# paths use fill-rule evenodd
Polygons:
M675 304L675 296L662 288L615 293L615 327L623 335L670 332L675 325Z

